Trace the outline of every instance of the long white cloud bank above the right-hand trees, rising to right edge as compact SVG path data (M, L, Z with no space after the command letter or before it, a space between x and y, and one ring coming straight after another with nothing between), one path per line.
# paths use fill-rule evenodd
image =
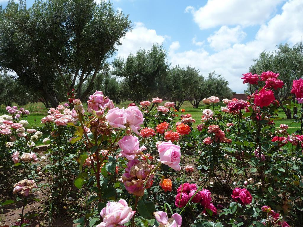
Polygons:
M169 53L171 63L181 66L191 65L199 69L204 76L215 70L229 81L229 86L233 91L242 93L246 89L246 84L242 84L240 77L253 64L253 58L258 58L264 50L276 49L276 45L280 42L288 42L293 45L301 41L302 15L303 1L289 0L282 7L281 14L275 15L266 25L260 27L255 35L255 40L233 45L231 45L232 42L229 42L230 47L214 54L210 54L204 49L171 52Z

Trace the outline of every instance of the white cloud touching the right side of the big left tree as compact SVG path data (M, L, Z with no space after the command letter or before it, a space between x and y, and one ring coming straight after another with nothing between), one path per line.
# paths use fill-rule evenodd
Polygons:
M126 58L131 52L135 53L139 49L150 49L153 43L161 44L167 36L157 35L154 29L148 29L141 22L135 22L132 31L126 33L125 38L121 39L122 45L117 56Z

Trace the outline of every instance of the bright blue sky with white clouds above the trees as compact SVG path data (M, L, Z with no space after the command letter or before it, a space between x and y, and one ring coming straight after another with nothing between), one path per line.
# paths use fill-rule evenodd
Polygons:
M97 2L100 0L96 0ZM27 6L33 0L27 1ZM111 0L129 15L132 31L116 56L163 44L172 66L190 65L205 77L216 71L237 93L240 79L262 51L303 37L303 0ZM7 0L0 0L5 6Z

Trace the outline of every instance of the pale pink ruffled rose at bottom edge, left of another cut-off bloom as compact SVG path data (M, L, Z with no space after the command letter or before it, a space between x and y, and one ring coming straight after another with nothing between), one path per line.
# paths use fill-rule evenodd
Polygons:
M135 211L128 207L124 199L120 199L119 202L107 202L106 207L100 212L103 222L96 225L96 227L121 226L128 222L134 214Z

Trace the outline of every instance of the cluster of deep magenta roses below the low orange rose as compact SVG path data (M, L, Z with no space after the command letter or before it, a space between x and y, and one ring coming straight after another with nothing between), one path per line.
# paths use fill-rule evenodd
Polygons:
M191 202L200 203L201 206L204 207L203 213L206 213L206 209L209 209L213 212L213 214L217 213L217 209L214 204L211 202L211 192L207 189L203 189L202 191L197 191L196 184L184 183L181 184L177 189L177 196L175 198L175 205L177 207L184 207L189 199Z

